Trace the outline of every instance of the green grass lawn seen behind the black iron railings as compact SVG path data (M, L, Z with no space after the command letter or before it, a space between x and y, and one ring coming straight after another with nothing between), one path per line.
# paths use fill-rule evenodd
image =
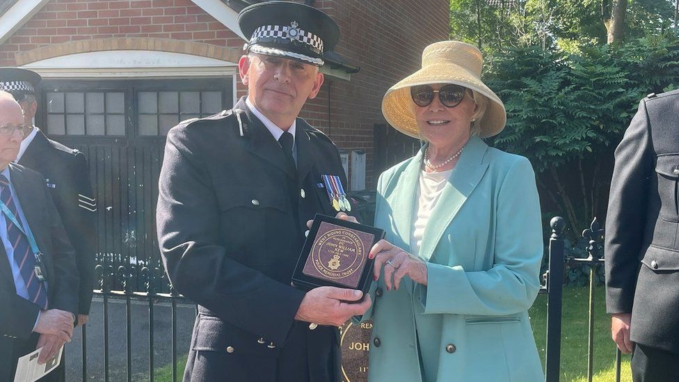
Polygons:
M610 335L610 319L606 315L604 288L597 287L594 313L594 381L615 381L615 345ZM564 289L561 327L561 381L587 381L587 308L589 289ZM540 295L530 310L538 352L545 364L547 340L547 295ZM177 379L182 380L186 356L177 360ZM156 369L155 381L171 382L172 365ZM632 382L630 356L623 355L621 381Z

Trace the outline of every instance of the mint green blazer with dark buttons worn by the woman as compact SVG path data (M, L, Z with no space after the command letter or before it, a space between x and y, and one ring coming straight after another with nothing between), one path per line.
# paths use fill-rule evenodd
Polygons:
M422 150L378 182L375 225L408 252L421 163ZM371 287L369 381L544 381L527 312L542 256L531 164L472 137L422 238L428 285ZM435 350L422 364L418 333Z

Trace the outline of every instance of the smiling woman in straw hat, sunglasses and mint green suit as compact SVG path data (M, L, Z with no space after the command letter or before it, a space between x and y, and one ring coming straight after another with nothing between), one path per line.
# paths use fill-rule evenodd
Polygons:
M424 49L422 69L386 93L415 157L378 182L369 381L543 381L528 317L540 287L540 205L531 164L481 138L505 125L463 42ZM527 137L529 138L529 137Z

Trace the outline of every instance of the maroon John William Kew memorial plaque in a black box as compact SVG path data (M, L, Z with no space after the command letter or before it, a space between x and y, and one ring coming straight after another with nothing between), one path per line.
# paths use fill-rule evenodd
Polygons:
M384 237L378 228L316 214L292 275L303 289L331 286L367 293L372 276L370 248Z

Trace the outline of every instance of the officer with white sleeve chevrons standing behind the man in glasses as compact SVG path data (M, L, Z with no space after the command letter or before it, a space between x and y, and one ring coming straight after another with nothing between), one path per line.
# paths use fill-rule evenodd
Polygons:
M33 125L38 111L35 88L40 74L19 67L0 68L0 90L11 93L24 110L25 137L15 163L31 168L45 177L45 184L61 215L68 238L76 252L80 278L78 326L85 324L92 302L97 252L97 200L90 185L90 173L82 152L53 141ZM51 378L65 379L65 369Z

